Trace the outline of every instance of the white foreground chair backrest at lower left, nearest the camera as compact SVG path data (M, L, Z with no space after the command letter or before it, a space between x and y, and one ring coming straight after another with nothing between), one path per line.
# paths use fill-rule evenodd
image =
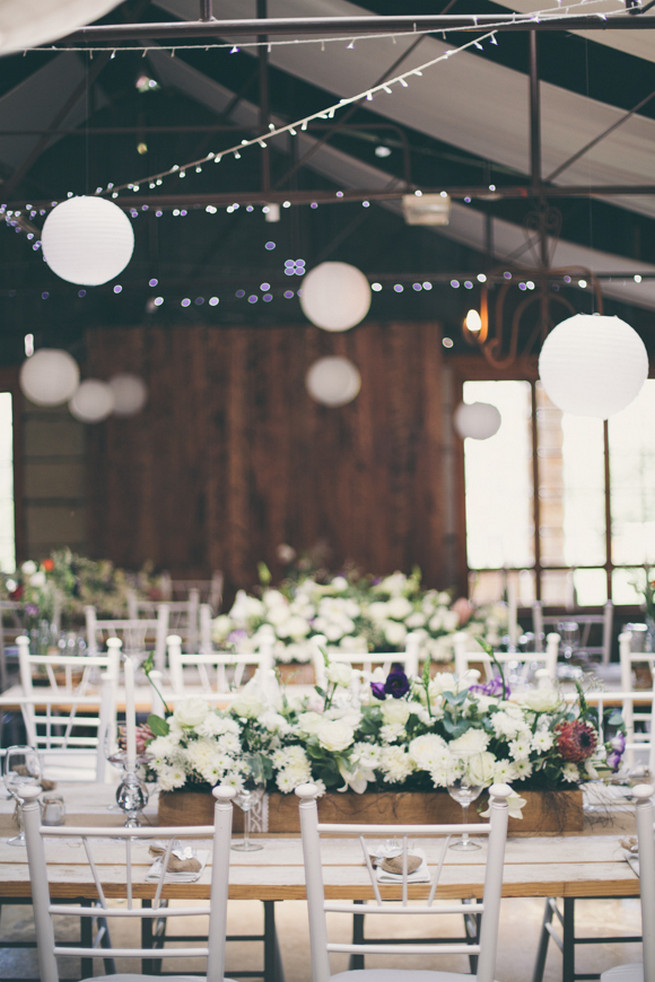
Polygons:
M38 789L25 787L21 789L21 794L23 793L25 798L21 811L42 982L59 982L58 957L73 955L97 958L99 954L97 947L77 947L57 942L54 923L60 915L106 919L110 927L100 949L103 957L148 958L159 960L161 964L163 958L188 960L190 957L203 956L207 958L208 982L223 982L233 788L214 789L216 800L213 825L174 828L74 828L68 825L40 827L40 810L36 797ZM91 906L55 903L52 900L47 860L56 854L62 834L67 847L81 847L71 853L71 857L75 857L76 866L80 864L79 875L82 876L82 882L93 884L95 902ZM171 875L168 869L174 856L173 850L179 849L185 842L192 845L201 865L203 861L207 861L208 866L211 863L210 871L202 873L203 877L211 875L211 897L208 902L188 906L166 905L163 894ZM150 854L151 845L162 850L158 857ZM151 905L142 905L138 899L140 897L148 898ZM199 915L209 915L208 938L204 946L141 947L139 932L133 948L125 947L123 937L120 948L112 947L111 924L118 919L123 924L126 921L141 924L144 919L150 919L154 924L162 916L169 919ZM121 932L121 935L124 933Z

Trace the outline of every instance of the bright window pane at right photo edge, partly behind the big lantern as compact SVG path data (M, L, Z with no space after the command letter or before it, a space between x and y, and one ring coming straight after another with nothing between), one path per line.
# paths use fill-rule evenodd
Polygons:
M655 565L655 379L609 420L612 560Z

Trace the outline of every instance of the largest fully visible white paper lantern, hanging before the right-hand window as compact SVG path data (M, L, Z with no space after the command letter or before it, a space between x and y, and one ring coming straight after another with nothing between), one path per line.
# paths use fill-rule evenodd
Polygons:
M647 377L644 342L618 317L569 317L553 328L539 355L548 398L575 416L613 416L636 398Z

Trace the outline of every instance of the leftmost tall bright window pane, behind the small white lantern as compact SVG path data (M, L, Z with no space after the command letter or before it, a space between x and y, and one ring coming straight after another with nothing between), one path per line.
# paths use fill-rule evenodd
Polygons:
M534 563L529 382L465 382L464 402L488 402L502 423L488 440L464 440L470 569Z

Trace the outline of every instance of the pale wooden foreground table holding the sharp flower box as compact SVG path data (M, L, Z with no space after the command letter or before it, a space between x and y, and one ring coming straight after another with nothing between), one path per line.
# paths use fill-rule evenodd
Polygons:
M66 824L120 825L122 815L108 811L114 788L109 785L60 784L67 807ZM8 846L4 841L13 833L13 803L0 801L0 902L25 901L30 897L30 880L26 854L22 847ZM151 800L145 812L156 824L156 802ZM620 839L634 833L634 816L629 804L610 810L601 805L585 815L583 834L563 836L524 836L509 838L503 878L504 897L636 897L639 880L624 858ZM262 834L261 851L233 852L230 863L229 896L232 900L256 899L265 904L265 959L270 974L276 972L276 938L274 904L284 900L305 899L301 844L298 836ZM325 872L326 894L334 899L365 899L368 876L361 854L353 846L344 848L335 842L333 861ZM479 897L484 876L485 849L462 858L453 852L447 858L442 874L440 895L443 897ZM109 863L109 861L108 861ZM90 899L92 885L82 877L74 855L51 864L53 895L58 898ZM144 868L145 872L145 868ZM120 870L108 868L108 878L120 880ZM87 878L88 879L88 878ZM414 887L414 891L420 887ZM152 892L144 884L144 897ZM209 871L196 883L174 884L170 896L178 899L206 898L209 895ZM569 934L572 925L569 927ZM565 929L566 935L566 929ZM564 937L566 964L572 957L572 938ZM568 971L568 969L567 969ZM571 975L564 975L565 980Z

